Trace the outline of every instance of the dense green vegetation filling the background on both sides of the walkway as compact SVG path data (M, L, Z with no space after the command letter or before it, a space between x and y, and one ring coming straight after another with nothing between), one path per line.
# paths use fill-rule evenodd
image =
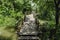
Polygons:
M36 17L39 19L40 26L47 30L45 36L48 37L56 24L54 0L0 0L0 27L14 29L17 21L21 22L23 19L24 8L37 12Z

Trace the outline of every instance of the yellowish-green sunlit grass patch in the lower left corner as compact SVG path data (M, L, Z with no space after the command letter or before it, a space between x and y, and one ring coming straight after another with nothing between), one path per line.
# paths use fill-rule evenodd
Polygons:
M0 27L0 40L16 40L17 35L13 28Z

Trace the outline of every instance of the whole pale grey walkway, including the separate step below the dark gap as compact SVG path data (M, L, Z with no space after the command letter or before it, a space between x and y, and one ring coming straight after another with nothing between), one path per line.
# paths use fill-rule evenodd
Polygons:
M18 40L39 40L37 25L33 14L26 15L23 27L21 27Z

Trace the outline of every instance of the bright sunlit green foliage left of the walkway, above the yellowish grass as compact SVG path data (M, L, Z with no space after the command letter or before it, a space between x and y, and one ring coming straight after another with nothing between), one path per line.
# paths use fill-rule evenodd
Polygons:
M17 17L21 19L23 16L20 8L20 3L15 0L0 0L0 26L14 26Z

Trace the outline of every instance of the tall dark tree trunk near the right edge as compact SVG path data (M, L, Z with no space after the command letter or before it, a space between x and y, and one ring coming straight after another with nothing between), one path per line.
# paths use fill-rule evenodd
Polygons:
M57 29L58 29L58 24L59 24L59 3L60 2L60 0L54 0L54 3L55 3L55 9L56 9L56 27L55 27L55 38L54 38L54 40L58 40L58 38L57 38Z

